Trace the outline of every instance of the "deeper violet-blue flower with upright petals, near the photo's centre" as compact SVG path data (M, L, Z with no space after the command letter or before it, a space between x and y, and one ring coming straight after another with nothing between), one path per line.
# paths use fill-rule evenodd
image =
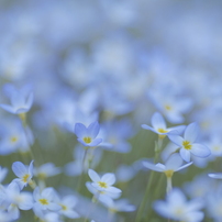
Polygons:
M86 127L82 123L76 123L75 134L77 140L85 146L97 146L102 142L102 138L96 138L99 133L100 126L96 121Z

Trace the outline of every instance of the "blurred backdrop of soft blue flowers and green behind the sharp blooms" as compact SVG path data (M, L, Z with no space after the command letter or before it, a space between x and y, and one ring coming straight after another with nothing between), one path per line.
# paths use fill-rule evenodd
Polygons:
M27 121L35 166L52 162L64 171L46 180L48 187L66 186L75 192L81 151L74 125L98 120L101 137L111 145L98 147L93 168L115 173L122 197L137 207L149 174L140 163L154 157L157 140L141 124L151 125L155 111L169 126L198 122L200 141L214 155L193 158L191 170L175 176L175 186L222 169L221 9L220 0L0 1L0 103L10 101L8 84L18 89L29 85L34 92ZM1 142L19 127L16 121L16 115L0 110ZM22 159L20 145L5 154L2 144L3 167L30 163L30 157ZM74 170L67 167L70 163ZM10 173L5 182L13 178ZM85 174L84 181L89 180ZM84 181L76 195L91 198ZM157 182L158 173L153 189ZM165 198L165 186L156 199ZM163 221L151 203L147 209L144 221ZM133 222L135 214L120 213L116 221ZM213 213L207 214L213 219Z

